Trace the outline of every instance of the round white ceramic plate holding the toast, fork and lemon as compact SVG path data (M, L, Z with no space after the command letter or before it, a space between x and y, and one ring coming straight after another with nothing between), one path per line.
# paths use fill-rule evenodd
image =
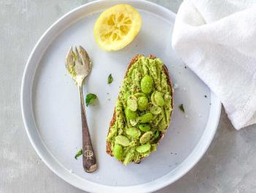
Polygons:
M140 33L124 50L100 50L93 37L97 17L114 4L127 3L141 14ZM216 132L221 106L173 52L174 20L173 12L148 1L94 1L61 17L37 42L21 87L23 120L39 157L69 184L89 192L153 192L181 178L203 156ZM81 147L80 103L64 58L70 46L79 44L94 63L84 92L95 93L99 98L95 106L86 108L99 163L95 173L85 173L81 157L74 159ZM140 165L124 167L105 153L105 137L127 63L137 53L162 58L178 88L173 121L158 150ZM114 81L108 85L110 73ZM181 103L186 114L178 109Z

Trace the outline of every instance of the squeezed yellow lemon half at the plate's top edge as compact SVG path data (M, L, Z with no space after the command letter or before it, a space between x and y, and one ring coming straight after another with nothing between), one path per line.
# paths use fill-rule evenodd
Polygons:
M135 39L140 26L140 13L129 4L118 4L99 16L94 25L94 38L103 50L121 50Z

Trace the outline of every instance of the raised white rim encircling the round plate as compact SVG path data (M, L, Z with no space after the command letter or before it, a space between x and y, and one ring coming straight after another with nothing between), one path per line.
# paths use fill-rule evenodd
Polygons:
M162 189L163 187L172 184L174 181L177 181L179 178L181 178L182 176L184 176L187 172L189 172L189 170L191 170L196 164L197 162L199 162L199 160L203 157L203 155L205 154L205 152L207 151L208 147L211 144L211 141L214 138L214 135L217 131L217 126L219 124L219 118L220 118L220 114L221 114L221 108L222 108L222 103L219 101L219 99L217 98L216 95L214 95L213 92L211 92L211 102L216 104L215 106L211 106L210 112L209 112L209 117L208 117L208 122L206 127L210 127L208 125L211 125L211 129L208 130L204 130L200 140L198 141L198 143L196 144L195 148L192 150L192 152L190 152L189 156L184 159L183 162L181 162L180 165L178 165L178 167L175 170L178 170L179 168L183 168L183 170L181 169L181 171L179 171L176 176L174 178L170 178L170 176L168 176L167 173L165 176L162 176L160 178L158 178L155 181L151 181L151 182L147 182L145 184L138 184L135 186L108 186L108 185L103 185L103 184L97 184L94 183L92 181L88 181L84 178L80 178L79 176L75 176L76 180L78 181L79 178L80 180L83 180L87 182L86 186L81 186L77 181L74 181L74 179L69 178L69 176L72 173L69 173L69 170L67 171L60 171L58 169L58 164L59 167L61 167L61 163L58 162L57 159L54 158L54 156L50 153L50 151L48 151L48 154L50 154L53 158L53 160L48 160L49 157L47 157L47 154L44 154L44 152L42 152L40 149L42 148L42 146L46 149L47 147L45 146L45 144L43 143L43 141L41 140L40 136L38 136L38 138L41 140L40 145L37 144L37 141L34 141L33 138L33 134L31 133L31 130L36 130L36 127L29 127L29 121L26 117L26 109L25 109L25 96L26 96L26 92L25 92L25 86L26 86L26 76L28 76L28 68L29 66L31 66L31 60L34 57L35 52L37 51L37 48L39 47L39 44L43 44L42 42L44 41L45 37L48 36L48 33L50 33L51 30L53 30L53 28L62 20L67 19L67 17L69 15L74 14L75 12L77 12L79 9L84 9L84 7L88 7L92 4L100 4L102 2L107 2L108 0L98 0L98 1L92 1L89 2L87 4L83 4L79 7L76 7L75 9L70 10L69 12L67 12L65 15L63 15L62 17L60 17L58 20L56 20L56 22L54 22L52 25L50 25L50 27L42 34L42 36L39 38L39 40L37 41L37 43L35 44L33 50L31 51L31 54L29 55L29 58L27 60L24 72L23 72L23 78L22 78L22 82L21 82L21 90L20 90L20 106L21 106L21 114L23 117L23 123L25 125L25 130L26 133L29 137L29 141L31 142L31 145L34 147L35 151L37 152L37 154L39 155L39 157L42 159L43 162L45 162L45 165L48 166L48 168L50 168L50 170L53 171L53 173L56 173L57 176L59 176L60 178L62 178L64 181L67 181L67 183L72 184L72 186L78 187L79 189L83 189L84 191L89 191L89 192L100 192L100 190L105 189L111 192L131 192L131 191L135 191L135 192L154 192L157 191L158 189ZM112 3L120 3L120 2L127 2L127 0L113 0L111 1ZM171 12L169 9L162 7L158 4L155 4L153 2L150 1L146 1L146 0L131 0L129 2L136 2L138 4L147 4L151 7L156 7L156 9L162 9L164 12L166 12L168 15L171 15L172 17L176 17L176 14ZM33 77L34 80L34 77ZM32 95L32 92L31 92ZM31 101L32 103L32 101ZM31 105L32 106L32 105ZM215 109L214 109L215 107ZM210 115L214 114L214 117L212 117L213 119L211 119L211 121L209 121L210 119ZM34 121L34 117L32 117L31 121ZM207 139L207 140L206 140ZM39 142L39 143L40 143ZM201 147L199 147L201 146ZM189 163L189 159L192 159L193 162ZM55 162L53 162L55 161ZM55 164L55 165L53 165ZM57 165L56 165L57 164ZM63 167L62 167L63 169ZM64 173L65 172L65 173ZM68 175L68 176L67 176ZM95 187L97 186L97 187Z

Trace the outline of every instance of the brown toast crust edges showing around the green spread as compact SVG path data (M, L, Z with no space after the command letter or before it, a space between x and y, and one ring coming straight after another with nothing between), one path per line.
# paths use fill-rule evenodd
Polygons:
M136 63L137 60L138 60L140 57L143 57L143 55L135 55L135 57L132 58L132 60L130 60L124 78L127 76L128 71L129 71L129 68L131 68L132 65L133 65L134 63ZM150 58L150 59L155 59L156 57L154 57L154 55L149 55L148 58ZM168 70L167 70L167 67L166 67L164 64L162 65L162 70L164 71L164 73L165 73L165 75L166 75L166 77L167 77L167 84L170 86L170 96L171 96L170 106L171 106L171 109L173 109L173 87L172 87L172 82L171 82L170 75L169 75L169 72L168 72ZM171 116L172 116L172 112L173 112L173 110L170 111L170 119L171 119ZM110 133L110 128L115 124L115 122L116 122L116 107L114 108L114 111L113 111L113 117L112 117L112 119L110 120L110 127L108 128L108 134ZM170 122L169 122L169 125L170 125ZM169 125L168 125L167 127L169 127ZM166 131L167 131L167 128L165 128L165 130L163 130L162 132L159 133L159 139L158 139L158 141L157 141L157 145L158 145L159 141L164 137ZM111 157L114 156L114 155L113 155L113 151L111 150L111 143L110 143L110 141L107 141L107 143L106 143L106 152L107 152L107 154L109 154ZM141 157L140 160L141 160L141 159L143 159L143 157ZM140 160L138 160L138 161L132 160L132 162L140 163ZM122 161L121 161L121 162L122 162Z

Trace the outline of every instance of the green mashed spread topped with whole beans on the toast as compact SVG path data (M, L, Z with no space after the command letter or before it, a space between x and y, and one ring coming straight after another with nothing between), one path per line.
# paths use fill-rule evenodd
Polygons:
M107 141L116 159L127 165L157 150L169 122L171 90L162 61L141 57L129 68L116 102L116 122Z

